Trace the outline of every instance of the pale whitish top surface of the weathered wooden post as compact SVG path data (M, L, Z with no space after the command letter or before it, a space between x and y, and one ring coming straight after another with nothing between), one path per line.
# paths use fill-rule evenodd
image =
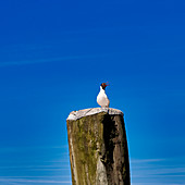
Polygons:
M100 112L107 112L110 115L116 115L116 114L123 115L123 112L121 110L113 109L113 108L90 108L90 109L73 111L70 113L66 120L78 120L83 116L92 115Z

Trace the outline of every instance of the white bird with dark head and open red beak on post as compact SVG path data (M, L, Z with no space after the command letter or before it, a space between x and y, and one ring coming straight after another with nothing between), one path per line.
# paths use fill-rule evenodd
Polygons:
M97 96L97 102L99 106L101 106L101 108L109 108L109 99L108 99L108 96L106 95L106 87L108 86L109 84L108 83L102 83L100 85L100 91Z

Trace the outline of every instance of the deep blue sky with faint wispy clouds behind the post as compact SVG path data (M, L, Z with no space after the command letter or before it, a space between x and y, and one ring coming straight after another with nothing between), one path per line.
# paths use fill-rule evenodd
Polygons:
M185 2L0 2L0 184L71 184L65 119L124 112L133 185L185 184Z

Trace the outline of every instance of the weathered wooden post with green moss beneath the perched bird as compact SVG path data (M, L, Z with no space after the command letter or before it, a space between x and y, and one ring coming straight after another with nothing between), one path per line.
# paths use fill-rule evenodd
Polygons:
M73 185L130 185L130 160L123 112L92 108L67 120Z

